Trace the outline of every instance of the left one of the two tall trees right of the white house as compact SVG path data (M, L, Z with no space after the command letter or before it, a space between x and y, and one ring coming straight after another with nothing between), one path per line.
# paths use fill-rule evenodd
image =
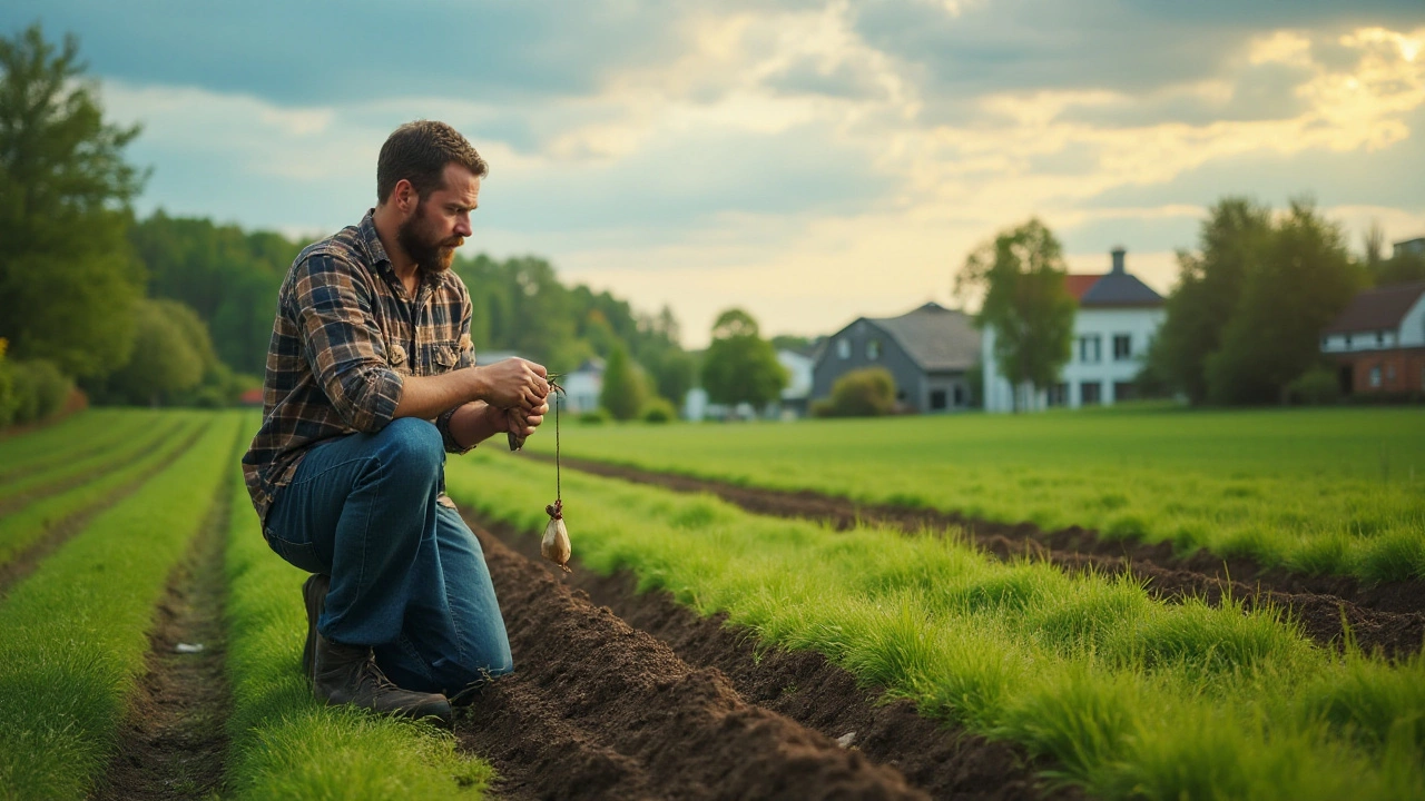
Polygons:
M1247 274L1261 264L1271 235L1268 207L1228 197L1208 210L1198 251L1177 254L1178 284L1164 304L1167 316L1146 369L1193 403L1207 400L1207 359L1221 348Z

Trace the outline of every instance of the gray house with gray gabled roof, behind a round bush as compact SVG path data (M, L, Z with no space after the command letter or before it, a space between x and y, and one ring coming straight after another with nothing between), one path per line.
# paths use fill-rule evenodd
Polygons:
M826 338L812 368L814 399L829 398L854 369L885 368L908 410L952 412L970 403L965 373L979 361L980 335L969 315L925 304L893 318L858 318Z

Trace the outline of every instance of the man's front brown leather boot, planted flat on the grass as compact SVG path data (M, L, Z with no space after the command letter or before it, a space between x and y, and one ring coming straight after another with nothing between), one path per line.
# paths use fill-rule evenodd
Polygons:
M433 717L450 725L450 701L439 693L412 693L396 687L376 667L369 646L345 646L316 634L312 691L328 706L352 704L382 714Z

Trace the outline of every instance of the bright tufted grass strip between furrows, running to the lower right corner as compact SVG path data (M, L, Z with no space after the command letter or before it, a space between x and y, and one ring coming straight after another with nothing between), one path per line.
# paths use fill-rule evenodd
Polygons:
M551 466L483 453L446 473L482 513L547 522ZM579 473L563 489L591 569L817 650L1102 797L1425 797L1425 657L1338 656L1270 610L1163 604L1130 577L1000 563L955 537L838 533Z

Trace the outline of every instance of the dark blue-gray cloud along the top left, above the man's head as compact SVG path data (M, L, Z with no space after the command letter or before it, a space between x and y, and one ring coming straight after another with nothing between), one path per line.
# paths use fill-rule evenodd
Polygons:
M0 31L80 36L93 71L281 104L577 95L673 58L684 3L10 0Z

